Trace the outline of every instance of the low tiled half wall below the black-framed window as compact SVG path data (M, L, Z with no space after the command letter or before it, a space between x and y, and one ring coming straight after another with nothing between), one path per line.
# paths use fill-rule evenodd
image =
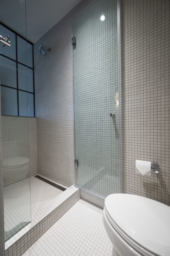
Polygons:
M30 117L1 116L1 123L6 186L37 173L37 128L36 118Z

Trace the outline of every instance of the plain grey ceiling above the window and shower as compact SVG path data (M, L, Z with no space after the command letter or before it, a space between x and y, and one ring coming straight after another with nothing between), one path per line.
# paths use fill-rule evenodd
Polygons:
M0 21L35 43L80 0L0 0Z

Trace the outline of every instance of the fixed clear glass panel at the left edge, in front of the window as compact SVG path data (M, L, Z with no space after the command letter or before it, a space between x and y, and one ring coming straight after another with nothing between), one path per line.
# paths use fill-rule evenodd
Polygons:
M9 8L13 10L9 14ZM4 237L31 221L26 41L24 0L0 2L0 107ZM22 69L21 69L22 68ZM24 90L20 90L25 86ZM27 95L24 94L24 95ZM23 104L24 102L24 104Z

